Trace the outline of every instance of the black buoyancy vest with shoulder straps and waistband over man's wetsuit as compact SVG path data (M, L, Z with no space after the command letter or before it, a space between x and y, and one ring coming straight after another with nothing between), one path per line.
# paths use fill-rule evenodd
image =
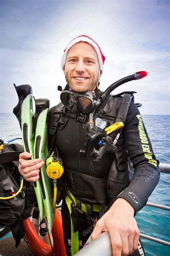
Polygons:
M100 117L102 120L106 121L108 125L112 125L117 117L117 112L122 101L121 95L125 93L133 94L135 92L123 92L118 95L108 96L97 109L95 113L96 117ZM85 119L85 117L79 114L73 114L72 118L75 118L77 122L87 121L87 118ZM57 130L62 130L67 120L68 115L62 103L50 109L48 117L48 148L51 148L52 145L52 151L55 149L58 152L57 145L54 145L54 138L57 134ZM119 137L116 146L117 149L114 152L115 157L107 179L96 178L72 170L67 170L63 177L61 177L62 182L66 184L74 196L81 202L109 205L110 202L113 202L116 197L128 187L134 169L122 136ZM62 199L61 195L62 192L59 192L57 195L57 203Z

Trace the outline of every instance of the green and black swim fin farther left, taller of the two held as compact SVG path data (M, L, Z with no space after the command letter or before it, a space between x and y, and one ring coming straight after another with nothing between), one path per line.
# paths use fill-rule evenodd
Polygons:
M32 87L30 85L19 85L14 84L16 92L18 94L19 102L13 109L13 113L19 121L20 128L22 130L23 146L24 151L32 154L32 159L34 159L34 138L33 133L33 103L32 103ZM44 205L41 196L40 182L37 180L34 184L34 189L37 196L37 202L40 212L40 218L45 217Z

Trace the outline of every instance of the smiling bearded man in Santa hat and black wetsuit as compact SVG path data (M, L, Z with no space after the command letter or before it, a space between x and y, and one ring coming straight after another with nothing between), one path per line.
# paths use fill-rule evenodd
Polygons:
M72 89L72 91L80 94L82 93L82 95L84 95L84 92L90 91L97 97L97 95L100 94L98 85L99 78L103 73L104 60L105 57L98 44L90 37L82 35L72 40L67 45L61 61L61 66L67 82L65 90L70 91L70 89ZM120 96L114 98L110 96L109 102L107 99L106 102L103 103L103 108L100 107L100 109L103 110L101 118L107 121L107 123L108 120L114 120L121 100L122 98ZM106 104L110 107L104 112L104 106ZM114 183L121 193L116 193L115 187L115 191L113 189L114 196L109 197L109 199L107 198L109 203L106 204L101 203L100 198L96 199L96 196L98 195L95 193L93 195L93 193L90 192L89 184L91 181L89 177L91 177L91 180L95 177L94 183L108 179L110 174L109 171L117 168L118 161L115 161L117 153L115 151L115 154L105 154L100 162L90 162L92 157L90 156L89 149L93 148L94 143L88 140L88 142L86 142L85 152L81 152L81 148L83 147L82 142L84 141L84 138L86 138L86 129L83 128L85 122L81 122L81 117L84 115L79 108L80 106L76 105L76 102L74 106L75 107L70 110L60 103L57 107L53 107L49 113L49 123L53 117L53 112L59 109L59 112L62 113L58 119L55 138L52 139L53 145L55 145L55 147L57 146L57 152L63 161L66 175L63 178L63 182L67 184L66 187L69 189L70 197L75 200L74 202L77 204L77 207L83 210L83 207L85 206L86 212L91 219L100 219L97 221L96 225L92 225L93 223L89 225L89 227L95 226L91 234L92 240L98 237L103 231L108 231L111 237L114 256L124 256L132 253L133 255L140 255L137 250L139 230L134 215L138 210L145 206L148 197L159 181L158 173L151 179L150 183L146 182L146 177L154 173L155 170L157 170L158 165L140 113L132 101L122 130L123 140L120 140L121 143L119 143L121 144L121 150L124 150L124 155L125 152L128 151L128 155L133 162L134 175L130 184L126 180L124 180L124 183L123 180ZM110 113L111 115L113 113L115 116L110 117ZM77 116L80 118L77 118ZM48 125L48 129L49 128L50 124ZM142 138L145 138L145 142L143 141L143 143ZM50 140L49 135L50 147L52 139ZM96 143L95 147L98 147ZM29 157L30 154L27 152L20 154L19 171L25 176L27 181L31 182L39 179L39 168L44 165L44 161L41 159L27 161L26 159ZM113 166L115 167L112 168ZM116 170L114 171L116 172ZM121 170L117 171L118 180L120 172ZM127 172L128 170L125 171L125 173ZM86 177L86 179L82 177ZM85 181L82 182L81 179L84 179ZM86 186L88 185L89 190L86 190ZM96 191L95 184L93 186ZM100 190L100 187L98 189ZM107 187L107 189L109 188ZM102 193L105 193L105 191ZM88 229L86 224L83 227L76 223L76 214L74 209L71 209L68 203L69 197L62 197L62 199L62 220L65 246L67 254L71 255L72 249L73 255L73 250L74 252L77 250L75 249L74 239L78 239L79 249L81 249L87 241L91 229ZM71 203L72 202L70 202L70 204ZM96 205L99 205L99 210L95 210L96 207L94 206ZM106 206L108 205L109 210L104 214ZM103 213L101 206L103 206L104 209ZM74 221L73 230L71 227L70 216L72 221ZM77 219L77 222L79 222L79 218ZM73 232L76 230L79 230L79 232L78 236L75 238L74 234L76 232L74 234Z

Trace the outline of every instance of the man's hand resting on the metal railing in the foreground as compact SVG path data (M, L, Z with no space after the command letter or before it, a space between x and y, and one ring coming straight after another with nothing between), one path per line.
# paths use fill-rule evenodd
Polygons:
M127 256L137 250L139 229L134 209L125 199L118 198L98 220L91 239L94 240L103 231L110 234L113 256Z

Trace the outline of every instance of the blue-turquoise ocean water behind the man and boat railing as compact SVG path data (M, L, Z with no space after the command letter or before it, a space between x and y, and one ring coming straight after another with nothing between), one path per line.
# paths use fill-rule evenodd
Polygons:
M170 163L170 116L143 115L156 158L161 163ZM0 139L5 141L21 137L18 120L12 113L0 114ZM21 140L15 141L22 144ZM161 173L159 184L148 202L170 206L170 174ZM140 233L170 242L170 212L145 206L136 215ZM147 256L169 256L170 247L141 239Z

